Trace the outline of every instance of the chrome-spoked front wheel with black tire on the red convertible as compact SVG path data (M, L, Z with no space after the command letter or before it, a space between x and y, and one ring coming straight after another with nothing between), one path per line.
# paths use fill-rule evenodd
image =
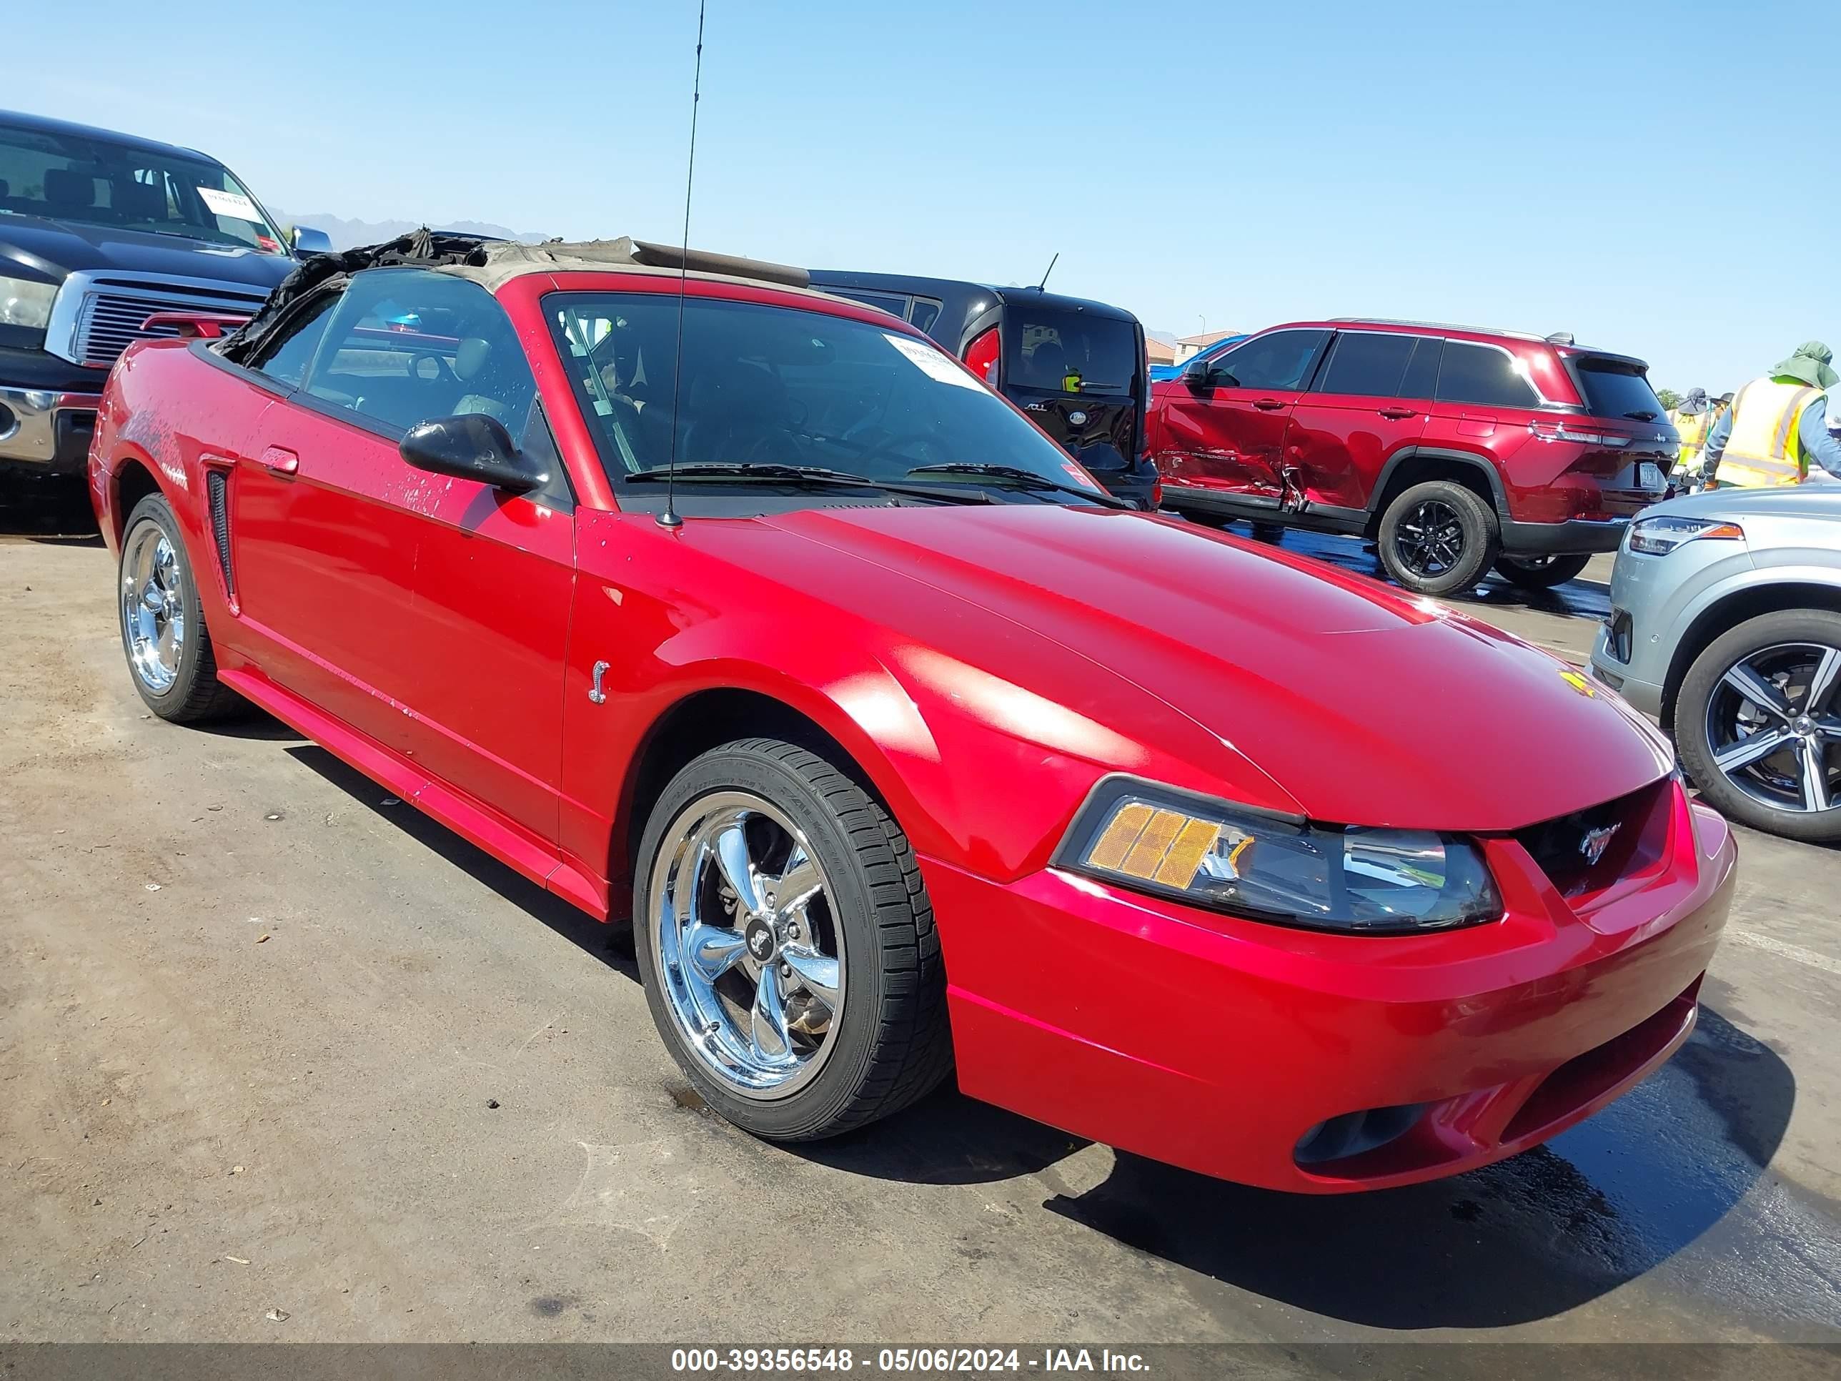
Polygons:
M633 943L677 1066L755 1136L836 1136L952 1068L913 849L862 786L793 744L724 744L672 779L639 843Z

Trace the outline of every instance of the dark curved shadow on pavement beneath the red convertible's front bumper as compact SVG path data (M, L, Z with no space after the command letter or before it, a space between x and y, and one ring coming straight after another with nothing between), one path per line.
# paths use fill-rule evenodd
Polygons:
M1675 1059L1545 1147L1366 1195L1250 1190L1119 1155L1046 1202L1127 1247L1311 1313L1388 1329L1550 1318L1719 1223L1777 1153L1797 1083L1718 1011Z

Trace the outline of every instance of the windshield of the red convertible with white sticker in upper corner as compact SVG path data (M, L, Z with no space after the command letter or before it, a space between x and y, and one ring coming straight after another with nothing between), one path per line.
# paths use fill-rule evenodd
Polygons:
M679 298L552 293L558 350L619 482L672 458ZM679 466L806 466L906 481L920 466L1009 466L1088 488L1068 455L928 341L849 317L683 300ZM920 475L911 482L965 484Z

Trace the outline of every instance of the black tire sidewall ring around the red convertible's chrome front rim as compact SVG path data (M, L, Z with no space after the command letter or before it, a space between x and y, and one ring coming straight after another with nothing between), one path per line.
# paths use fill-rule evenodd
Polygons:
M665 830L692 801L736 788L771 801L805 832L830 882L830 915L843 948L843 1016L827 1037L838 1044L808 1085L779 1099L735 1094L701 1066L685 1046L655 972L650 889ZM836 814L797 772L771 757L733 744L712 749L679 772L654 805L633 862L633 954L646 987L646 1005L677 1066L703 1099L738 1127L768 1140L812 1140L823 1136L823 1129L854 1105L874 1059L887 983L876 923L858 851L845 838Z

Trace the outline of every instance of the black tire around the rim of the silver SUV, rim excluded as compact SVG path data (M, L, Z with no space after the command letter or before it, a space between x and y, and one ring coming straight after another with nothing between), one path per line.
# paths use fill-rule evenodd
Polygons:
M1675 749L1683 770L1699 786L1701 797L1719 814L1766 834L1782 834L1804 843L1834 843L1841 840L1841 805L1817 816L1773 810L1727 781L1727 775L1714 766L1712 744L1707 740L1707 707L1721 678L1743 657L1778 643L1823 643L1841 648L1841 613L1782 609L1747 619L1708 643L1681 678L1673 713Z

